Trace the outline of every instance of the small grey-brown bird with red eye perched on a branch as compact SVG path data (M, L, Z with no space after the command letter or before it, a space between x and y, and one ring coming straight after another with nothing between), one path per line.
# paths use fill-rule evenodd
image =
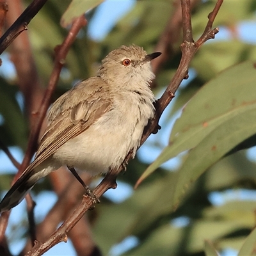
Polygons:
M102 60L98 76L61 95L49 110L35 160L4 196L0 212L19 204L39 179L61 166L97 175L120 166L130 150L135 156L154 116L150 61L160 54L121 46Z

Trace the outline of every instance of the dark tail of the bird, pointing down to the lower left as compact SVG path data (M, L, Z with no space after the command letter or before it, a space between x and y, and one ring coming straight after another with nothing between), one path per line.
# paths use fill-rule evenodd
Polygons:
M56 170L54 168L54 170ZM52 168L44 168L40 171L29 170L29 167L20 175L19 179L13 184L12 188L6 193L3 200L0 202L0 212L9 211L16 205L18 205L25 196L29 193L31 188L36 184L36 182L45 177L52 171Z

